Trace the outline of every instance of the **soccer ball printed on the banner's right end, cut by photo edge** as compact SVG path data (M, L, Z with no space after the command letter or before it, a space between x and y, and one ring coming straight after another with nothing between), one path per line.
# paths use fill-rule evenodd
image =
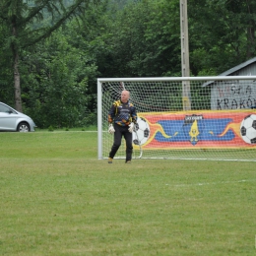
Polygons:
M256 114L244 117L240 125L242 139L248 144L256 144Z

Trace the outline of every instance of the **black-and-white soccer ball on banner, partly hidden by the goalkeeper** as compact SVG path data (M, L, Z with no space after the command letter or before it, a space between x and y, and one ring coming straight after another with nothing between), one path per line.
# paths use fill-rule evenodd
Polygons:
M135 145L145 144L150 138L150 133L150 126L147 121L142 117L138 117L133 129L133 143Z

